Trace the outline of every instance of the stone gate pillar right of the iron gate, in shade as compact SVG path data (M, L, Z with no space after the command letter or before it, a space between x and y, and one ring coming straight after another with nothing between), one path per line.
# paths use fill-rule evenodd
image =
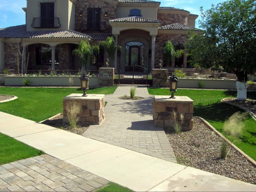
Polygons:
M153 69L152 72L153 87L168 87L168 70Z

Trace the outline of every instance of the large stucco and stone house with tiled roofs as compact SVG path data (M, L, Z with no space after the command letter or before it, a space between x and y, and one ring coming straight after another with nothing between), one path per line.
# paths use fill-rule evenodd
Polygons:
M28 70L81 69L72 55L81 40L92 45L114 36L117 52L112 67L139 65L157 67L163 60L163 47L170 40L184 49L187 31L194 30L198 17L174 7L160 7L160 2L146 0L27 0L26 24L0 29L0 70L17 70L17 52L24 49ZM90 61L90 67L105 65L107 53ZM21 57L18 57L21 69ZM186 51L172 66L186 68Z

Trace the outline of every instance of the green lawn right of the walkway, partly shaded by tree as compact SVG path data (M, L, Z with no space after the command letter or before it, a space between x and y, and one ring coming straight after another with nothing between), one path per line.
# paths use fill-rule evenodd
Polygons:
M148 88L148 91L150 95L171 95L168 89ZM227 118L236 112L245 113L239 107L221 102L222 98L237 97L237 91L178 89L175 95L188 96L194 100L193 116L204 118L220 133ZM247 97L256 100L256 92L247 92ZM256 121L248 116L244 123L245 128L240 141L234 144L256 161ZM235 139L237 138L231 141Z

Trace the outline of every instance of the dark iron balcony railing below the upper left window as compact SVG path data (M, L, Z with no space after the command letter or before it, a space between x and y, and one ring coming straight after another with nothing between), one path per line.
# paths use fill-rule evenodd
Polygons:
M58 17L37 17L33 19L32 28L60 28L60 19Z

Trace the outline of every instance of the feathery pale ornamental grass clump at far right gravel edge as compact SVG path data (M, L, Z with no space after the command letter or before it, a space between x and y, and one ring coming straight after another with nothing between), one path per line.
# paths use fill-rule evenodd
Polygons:
M220 146L220 158L226 159L228 152L230 151L231 144L236 142L238 139L234 140L232 143L228 138L239 138L242 130L244 128L244 122L247 113L241 114L240 112L234 113L228 120L225 121L223 126L223 133L226 137L222 137Z

